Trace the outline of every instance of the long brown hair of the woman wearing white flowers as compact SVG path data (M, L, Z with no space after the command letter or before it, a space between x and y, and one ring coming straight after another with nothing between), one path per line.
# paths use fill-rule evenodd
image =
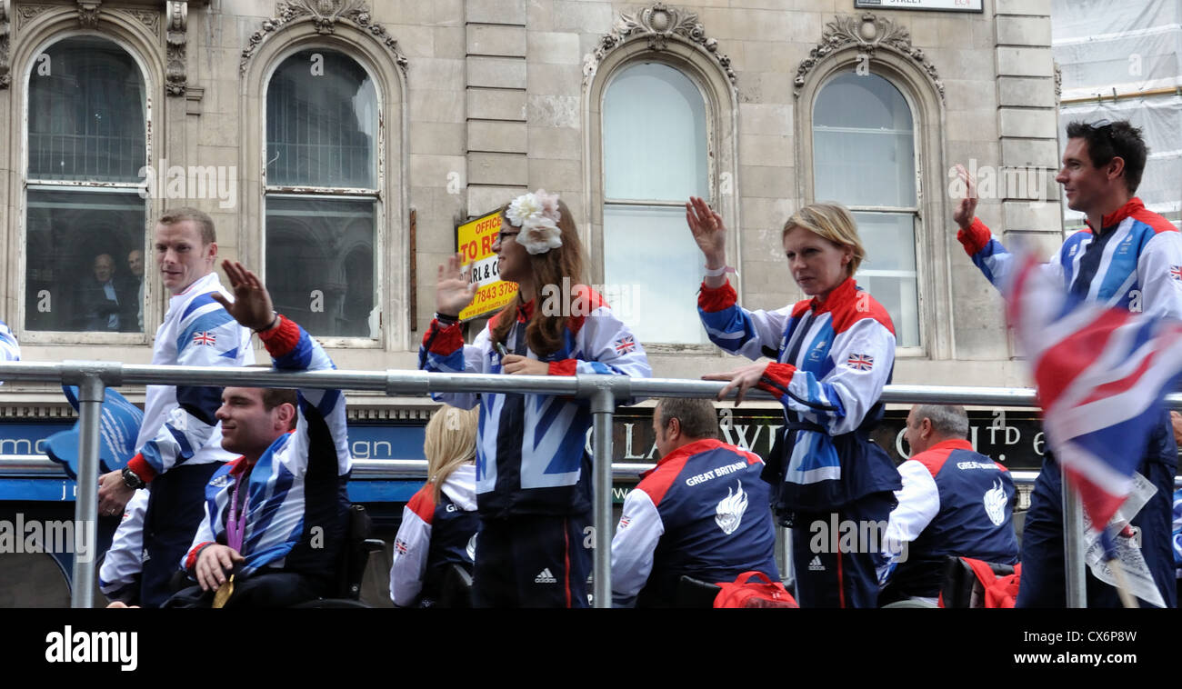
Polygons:
M513 226L505 215L509 204L501 207L501 227ZM561 200L558 201L560 217L558 229L561 232L563 246L550 249L541 254L526 254L530 256L530 267L533 271L533 286L535 300L541 297L543 288L552 285L558 294L573 300L578 290L576 285L584 284L583 280L583 242L579 241L579 233L574 228L574 220L571 217L571 209ZM515 226L513 226L515 227ZM570 287L564 292L563 278L567 279ZM525 299L518 291L517 298L493 317L493 342L505 343L508 339L509 330L517 323L517 314L520 307L525 306ZM558 314L547 316L540 304L534 304L533 317L525 329L525 339L538 356L546 356L558 351L563 346L563 327L572 312L571 304L563 304Z

